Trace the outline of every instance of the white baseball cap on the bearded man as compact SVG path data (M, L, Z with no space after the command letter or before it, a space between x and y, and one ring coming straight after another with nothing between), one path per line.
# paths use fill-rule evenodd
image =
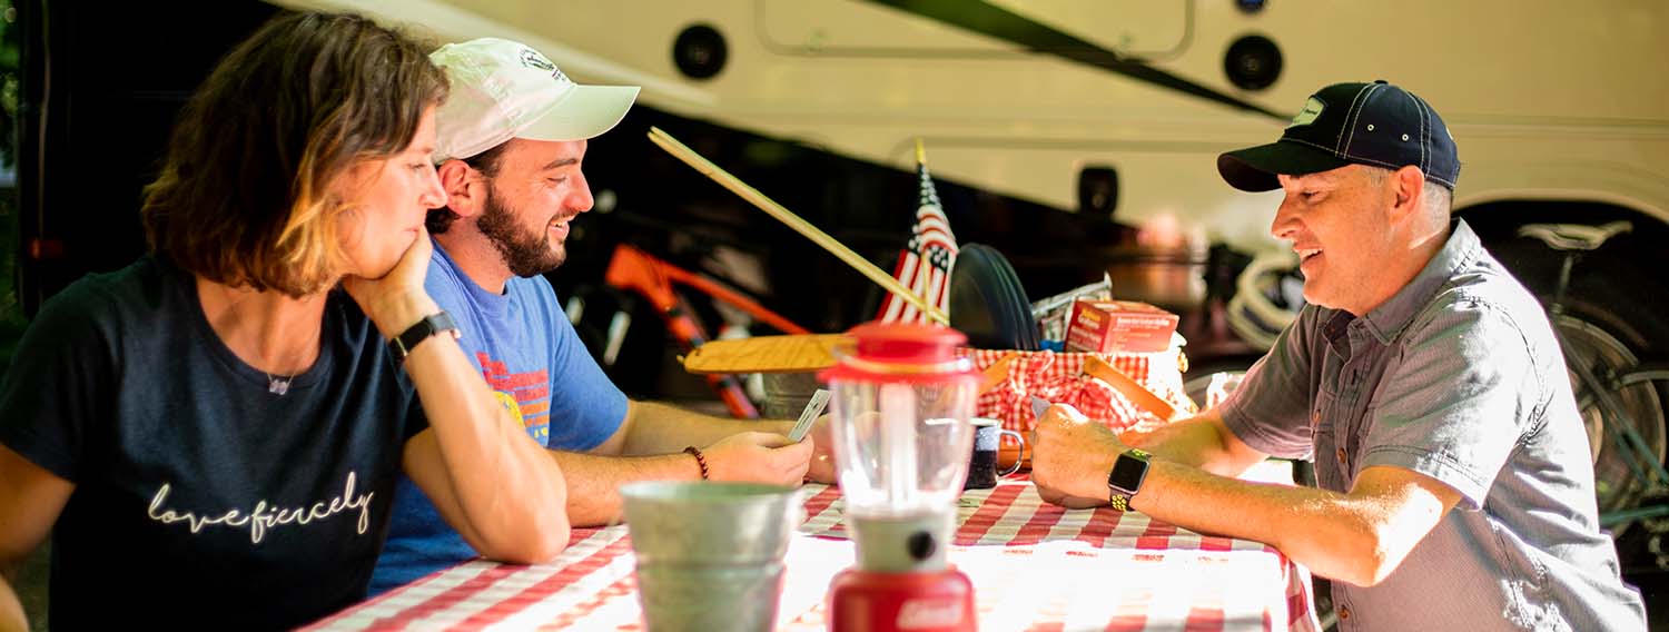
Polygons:
M429 53L452 93L436 113L434 162L469 158L511 138L584 140L626 117L636 85L579 85L537 50L482 37Z

